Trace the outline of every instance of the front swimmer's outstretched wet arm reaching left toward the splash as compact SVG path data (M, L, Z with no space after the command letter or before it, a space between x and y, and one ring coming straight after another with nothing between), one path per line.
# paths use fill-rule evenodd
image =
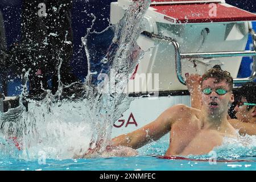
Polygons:
M184 105L172 106L164 111L155 121L135 130L129 134L120 135L112 139L112 146L127 146L134 149L140 148L152 140L158 140L171 130L176 115Z

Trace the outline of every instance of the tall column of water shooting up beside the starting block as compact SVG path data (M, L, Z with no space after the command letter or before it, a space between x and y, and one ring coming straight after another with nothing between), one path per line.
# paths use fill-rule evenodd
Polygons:
M97 88L98 92L96 91L95 94L96 88L93 85L93 80L96 78L92 74L95 72L92 72L91 68L88 67L90 70L85 81L86 100L91 103L90 110L92 112L90 113L90 118L92 118L94 125L97 126L96 131L93 132L90 147L97 148L100 145L101 147L97 151L101 152L109 144L113 122L121 116L131 102L131 98L127 97L123 92L129 80L127 75L133 72L139 58L143 55L141 49L137 46L136 40L142 31L141 20L149 5L150 1L132 3L120 22L107 28L107 30L114 30L114 38L108 48L108 53L100 61L100 63L106 64L106 68L109 68L103 73L105 75L103 85L108 85L108 88L110 88L107 92ZM88 35L97 34L97 32L90 33L89 31L90 28L88 29L88 34L82 39L88 55L90 55L86 44ZM88 65L97 64L92 63L93 60L90 58L88 56ZM114 80L114 84L111 84L111 80ZM104 122L102 122L102 119L99 120L99 117L104 119Z

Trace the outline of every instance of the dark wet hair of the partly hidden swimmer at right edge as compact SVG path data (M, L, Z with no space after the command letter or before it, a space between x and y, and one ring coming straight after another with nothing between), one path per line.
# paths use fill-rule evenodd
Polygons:
M241 101L242 97L245 97L248 103L256 104L256 82L246 82L238 89L238 101ZM253 106L247 106L247 110L250 110Z

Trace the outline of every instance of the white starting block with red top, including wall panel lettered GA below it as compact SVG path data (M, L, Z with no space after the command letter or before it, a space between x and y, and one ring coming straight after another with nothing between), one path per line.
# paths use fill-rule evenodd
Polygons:
M118 0L111 4L112 24L122 18L131 2ZM143 51L150 51L140 61L128 90L137 96L157 92L158 97L135 98L129 110L114 123L113 137L146 125L174 104L190 105L185 73L202 75L218 64L231 73L235 83L253 80L256 34L251 21L254 20L255 14L228 5L224 0L152 0L144 15L144 31L137 40ZM248 36L253 36L251 51L245 51ZM236 78L242 56L254 57L253 72L248 78ZM154 80L148 75L155 74L158 87L148 86Z

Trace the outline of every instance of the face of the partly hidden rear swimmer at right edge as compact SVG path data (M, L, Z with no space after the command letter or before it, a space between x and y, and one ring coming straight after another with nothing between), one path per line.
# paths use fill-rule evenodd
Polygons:
M242 97L241 102L247 102L246 98ZM247 107L248 106L246 105L236 105L236 107L234 107L234 111L236 111L236 117L238 120L249 123L253 121L252 118L255 107L250 110L247 110Z

